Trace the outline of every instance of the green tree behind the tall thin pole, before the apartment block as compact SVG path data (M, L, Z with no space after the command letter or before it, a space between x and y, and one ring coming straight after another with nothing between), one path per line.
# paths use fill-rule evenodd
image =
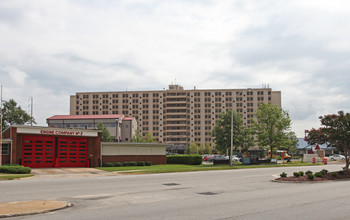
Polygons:
M231 148L231 118L231 110L223 112L211 133L216 144L215 149L221 153L226 153ZM242 146L244 129L241 115L233 112L233 151L237 151Z

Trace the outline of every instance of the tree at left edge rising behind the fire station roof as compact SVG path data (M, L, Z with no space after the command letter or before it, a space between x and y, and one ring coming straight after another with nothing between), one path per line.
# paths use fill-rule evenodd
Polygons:
M17 106L17 102L13 99L3 101L2 115L2 130L11 125L36 124L34 118L25 112L21 106Z

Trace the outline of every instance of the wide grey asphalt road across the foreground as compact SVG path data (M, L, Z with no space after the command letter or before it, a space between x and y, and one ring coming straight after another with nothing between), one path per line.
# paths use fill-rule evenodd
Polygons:
M350 181L271 182L283 171L342 166L0 181L0 202L46 199L74 205L11 219L349 219Z

